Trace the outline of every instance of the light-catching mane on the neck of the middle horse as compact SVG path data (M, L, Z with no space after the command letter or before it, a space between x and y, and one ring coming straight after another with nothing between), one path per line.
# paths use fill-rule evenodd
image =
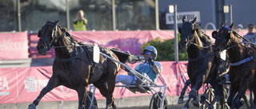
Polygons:
M206 35L206 33L204 33L202 31L202 29L200 28L200 25L198 24L194 24L194 28L196 30L196 32L198 33L198 37L200 38L200 40L206 44L206 45L213 45L213 42L210 41L210 37Z

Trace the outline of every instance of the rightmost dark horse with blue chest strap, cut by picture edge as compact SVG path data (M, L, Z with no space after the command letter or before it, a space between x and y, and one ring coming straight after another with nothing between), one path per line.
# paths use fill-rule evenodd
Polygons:
M227 103L231 109L242 106L240 99L246 94L246 90L253 91L254 98L256 94L256 49L246 47L239 42L239 34L233 30L234 22L226 26L223 22L220 29L212 33L215 38L214 51L220 53L227 51L230 57L230 95ZM246 39L245 39L246 40ZM251 43L246 41L246 43ZM250 96L252 101L252 96ZM250 104L250 107L256 108L256 99Z

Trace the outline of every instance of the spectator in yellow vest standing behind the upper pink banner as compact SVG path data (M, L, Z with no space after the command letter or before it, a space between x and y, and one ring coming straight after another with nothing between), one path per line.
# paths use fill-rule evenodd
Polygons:
M83 10L78 11L77 19L74 21L74 30L75 31L86 31L87 19L83 17Z

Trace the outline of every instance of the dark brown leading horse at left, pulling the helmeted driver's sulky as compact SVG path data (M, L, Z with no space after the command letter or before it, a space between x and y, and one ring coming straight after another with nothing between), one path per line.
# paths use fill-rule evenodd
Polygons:
M98 64L94 63L92 60L93 46L76 41L66 32L65 28L58 25L58 21L46 21L46 24L38 31L38 37L38 53L45 55L47 51L54 48L56 56L53 75L46 87L30 104L29 109L35 109L42 97L59 85L78 92L78 109L90 108L86 106L88 84L94 84L106 97L106 109L111 106L114 109L117 108L114 103L113 91L120 64L102 55L100 55ZM116 49L101 48L100 52L122 63L125 63L130 56L118 52Z

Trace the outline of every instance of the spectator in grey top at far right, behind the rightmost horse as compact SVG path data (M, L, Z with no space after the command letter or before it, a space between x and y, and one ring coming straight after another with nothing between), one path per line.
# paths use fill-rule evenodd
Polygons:
M248 33L244 36L244 38L246 38L248 41L256 44L256 33L254 32L254 28L255 26L253 24L248 25L247 29L248 29ZM245 40L243 40L245 41ZM244 43L246 46L249 46L250 43Z

